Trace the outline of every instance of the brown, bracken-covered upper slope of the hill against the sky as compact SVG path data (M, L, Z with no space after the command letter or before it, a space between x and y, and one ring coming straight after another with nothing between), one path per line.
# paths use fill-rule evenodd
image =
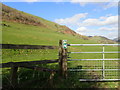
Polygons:
M27 25L41 26L62 33L76 35L76 32L74 32L66 26L62 26L57 23L45 20L43 18L33 16L22 11L18 11L4 4L2 5L2 19L3 21L12 21Z

